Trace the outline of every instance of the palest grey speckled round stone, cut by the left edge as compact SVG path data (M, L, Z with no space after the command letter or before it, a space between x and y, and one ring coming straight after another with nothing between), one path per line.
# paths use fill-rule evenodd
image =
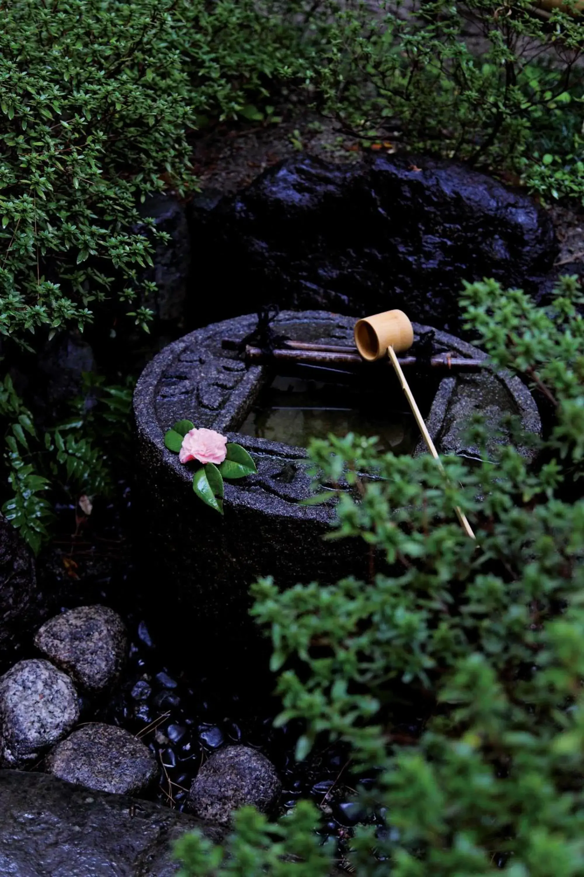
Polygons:
M79 720L73 682L47 660L21 660L0 678L0 761L24 766Z

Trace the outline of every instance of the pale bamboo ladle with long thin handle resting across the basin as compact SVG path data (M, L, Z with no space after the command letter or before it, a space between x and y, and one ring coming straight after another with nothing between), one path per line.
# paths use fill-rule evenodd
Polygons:
M444 472L444 467L440 462L438 451L436 450L432 437L424 423L424 417L420 414L419 407L413 397L412 390L408 382L405 380L405 374L399 365L396 353L404 353L413 344L413 328L409 318L403 310L385 310L383 314L374 314L373 317L364 317L355 323L355 345L361 353L363 360L373 362L381 360L384 356L389 356L391 365L395 373L398 375L398 381L404 390L405 398L412 409L412 414L416 418L419 431L426 442L428 451L432 454L434 460L437 461L440 470ZM461 522L461 527L465 533L472 539L475 533L472 530L468 519L463 511L456 506L454 509L456 517Z

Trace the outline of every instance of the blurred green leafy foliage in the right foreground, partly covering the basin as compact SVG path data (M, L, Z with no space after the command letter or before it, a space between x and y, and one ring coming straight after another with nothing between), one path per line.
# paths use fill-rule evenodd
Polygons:
M494 282L463 296L494 363L524 374L556 409L536 465L506 445L472 469L444 458L444 478L428 456L379 455L353 435L313 441L317 480L349 486L334 538L360 536L385 563L367 582L253 587L280 671L278 722L306 725L298 757L317 739L341 738L355 772L376 778L357 792L363 817L349 859L360 877L584 873L578 297L569 278L548 310ZM486 445L482 424L473 431ZM396 733L405 709L423 726L407 742ZM317 854L315 816L303 805L270 826L242 811L225 853L182 838L182 873L324 877L334 853Z

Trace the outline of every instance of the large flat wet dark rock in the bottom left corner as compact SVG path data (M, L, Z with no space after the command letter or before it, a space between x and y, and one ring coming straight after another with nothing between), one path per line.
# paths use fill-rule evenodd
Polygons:
M0 771L0 812L0 873L15 877L171 877L185 831L222 841L193 816L49 774Z

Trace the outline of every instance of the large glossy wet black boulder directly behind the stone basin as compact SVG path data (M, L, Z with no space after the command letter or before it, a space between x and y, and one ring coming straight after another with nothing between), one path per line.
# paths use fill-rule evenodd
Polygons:
M402 308L449 331L461 329L463 280L536 292L558 253L550 218L524 192L466 166L388 156L286 160L215 207L198 205L193 235L215 288L245 278L247 310ZM206 282L201 261L197 271ZM236 313L224 298L208 306L201 324Z

